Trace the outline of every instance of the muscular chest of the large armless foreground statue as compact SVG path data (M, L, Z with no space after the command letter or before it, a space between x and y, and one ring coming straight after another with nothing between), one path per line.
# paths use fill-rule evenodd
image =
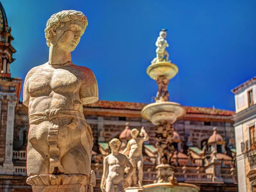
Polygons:
M79 88L80 80L67 69L42 68L29 80L29 93L33 95L51 92L74 92Z

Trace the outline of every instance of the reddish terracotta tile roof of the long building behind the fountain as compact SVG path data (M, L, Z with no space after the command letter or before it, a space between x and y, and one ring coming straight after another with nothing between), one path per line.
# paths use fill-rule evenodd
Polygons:
M99 100L96 103L85 105L85 107L140 111L146 105L147 103ZM223 116L232 116L235 114L235 111L216 109L216 108L188 107L188 106L184 106L184 108L187 110L187 114L205 114L205 115L223 115Z

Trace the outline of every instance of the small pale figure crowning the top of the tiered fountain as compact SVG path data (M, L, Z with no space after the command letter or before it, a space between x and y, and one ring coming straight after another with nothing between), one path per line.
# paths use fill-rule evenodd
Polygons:
M159 61L169 61L169 54L165 50L166 47L169 47L169 44L165 40L166 38L166 33L167 29L162 29L159 32L159 36L156 39L156 58L154 58L151 63L157 63Z

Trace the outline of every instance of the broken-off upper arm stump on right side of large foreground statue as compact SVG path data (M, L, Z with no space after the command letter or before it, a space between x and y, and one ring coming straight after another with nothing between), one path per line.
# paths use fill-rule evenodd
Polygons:
M83 67L82 85L80 88L80 99L83 105L95 103L99 99L98 83L91 69Z

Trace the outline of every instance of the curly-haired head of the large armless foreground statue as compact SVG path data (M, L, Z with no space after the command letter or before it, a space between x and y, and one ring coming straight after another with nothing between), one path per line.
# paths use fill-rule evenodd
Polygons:
M46 22L46 44L67 52L74 51L87 25L87 18L82 12L65 10L55 13Z

